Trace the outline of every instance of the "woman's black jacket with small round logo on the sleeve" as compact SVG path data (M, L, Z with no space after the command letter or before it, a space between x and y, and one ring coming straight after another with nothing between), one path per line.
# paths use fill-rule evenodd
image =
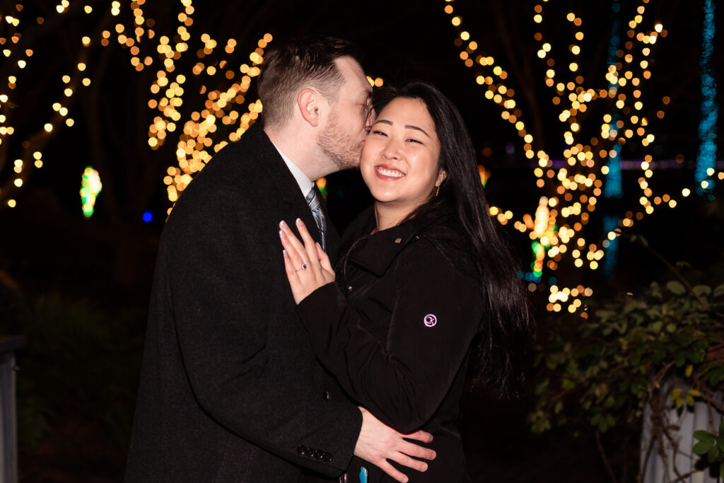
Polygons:
M456 426L468 354L485 311L470 253L450 211L367 236L371 210L345 239L357 239L337 266L337 283L298 306L322 364L353 400L398 429L424 429L437 453L424 473L397 466L411 483L469 482ZM344 245L345 243L343 243ZM468 248L465 248L468 247ZM348 482L393 482L353 458Z

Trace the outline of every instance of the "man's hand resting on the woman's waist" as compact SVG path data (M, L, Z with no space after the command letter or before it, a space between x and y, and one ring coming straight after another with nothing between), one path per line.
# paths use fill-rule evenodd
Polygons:
M402 434L376 419L365 408L360 408L360 411L362 411L362 429L357 438L357 445L355 445L355 456L358 458L378 466L382 471L402 483L407 483L408 477L397 471L387 460L395 461L417 471L425 471L427 463L411 458L411 456L426 460L435 459L433 450L403 439L431 442L432 434L424 431Z

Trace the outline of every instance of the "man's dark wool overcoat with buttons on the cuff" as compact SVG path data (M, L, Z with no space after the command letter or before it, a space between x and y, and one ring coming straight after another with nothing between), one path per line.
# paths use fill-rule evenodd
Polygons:
M180 196L156 261L127 482L298 482L300 467L347 468L361 413L329 397L295 311L278 223L297 217L319 237L258 125Z

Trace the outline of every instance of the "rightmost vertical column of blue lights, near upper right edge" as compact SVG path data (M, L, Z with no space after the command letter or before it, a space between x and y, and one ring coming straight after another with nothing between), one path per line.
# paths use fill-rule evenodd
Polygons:
M704 1L704 32L702 41L702 118L699 121L699 156L696 156L696 192L707 193L714 198L714 167L717 156L717 115L719 106L716 103L717 83L711 66L714 51L714 2Z

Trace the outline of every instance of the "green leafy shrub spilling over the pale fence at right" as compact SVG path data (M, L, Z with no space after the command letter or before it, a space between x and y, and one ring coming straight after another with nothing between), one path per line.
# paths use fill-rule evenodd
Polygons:
M582 322L559 320L550 332L535 361L534 432L575 418L598 434L639 425L647 406L656 419L696 400L724 413L714 398L724 381L724 285L654 282L640 294L600 303ZM665 425L653 427L660 442L670 436Z

